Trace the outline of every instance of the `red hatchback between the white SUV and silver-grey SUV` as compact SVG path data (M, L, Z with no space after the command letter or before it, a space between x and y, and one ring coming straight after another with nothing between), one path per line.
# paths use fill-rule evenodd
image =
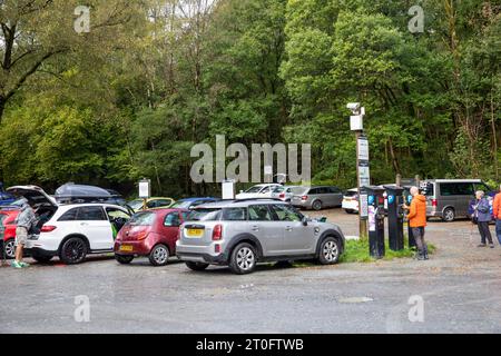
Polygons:
M115 240L115 258L130 264L137 256L148 256L154 266L165 266L176 255L179 226L189 210L151 209L136 212Z

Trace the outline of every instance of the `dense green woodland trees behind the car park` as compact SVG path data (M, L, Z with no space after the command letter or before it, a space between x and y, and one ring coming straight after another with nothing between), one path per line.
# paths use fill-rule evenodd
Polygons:
M76 33L78 1L0 1L0 180L214 194L189 151L226 135L311 144L350 188L361 101L374 182L499 181L501 2L415 2L422 33L404 0L96 0Z

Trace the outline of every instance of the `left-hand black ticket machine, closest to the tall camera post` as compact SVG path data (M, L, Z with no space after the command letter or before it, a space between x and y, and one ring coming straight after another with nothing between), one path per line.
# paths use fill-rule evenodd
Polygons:
M384 257L384 189L365 187L369 205L369 253L371 257Z

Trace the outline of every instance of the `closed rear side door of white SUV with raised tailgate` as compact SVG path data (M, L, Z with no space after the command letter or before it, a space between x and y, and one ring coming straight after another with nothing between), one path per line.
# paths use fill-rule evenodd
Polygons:
M112 250L111 222L101 206L79 207L75 222L80 234L88 238L91 250Z

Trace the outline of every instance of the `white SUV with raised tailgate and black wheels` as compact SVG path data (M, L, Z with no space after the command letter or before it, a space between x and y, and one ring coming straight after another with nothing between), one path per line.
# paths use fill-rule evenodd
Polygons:
M84 261L88 254L112 253L118 230L130 218L130 211L111 204L59 205L36 186L7 190L36 202L40 222L26 249L40 263L59 256L62 263L72 265Z

